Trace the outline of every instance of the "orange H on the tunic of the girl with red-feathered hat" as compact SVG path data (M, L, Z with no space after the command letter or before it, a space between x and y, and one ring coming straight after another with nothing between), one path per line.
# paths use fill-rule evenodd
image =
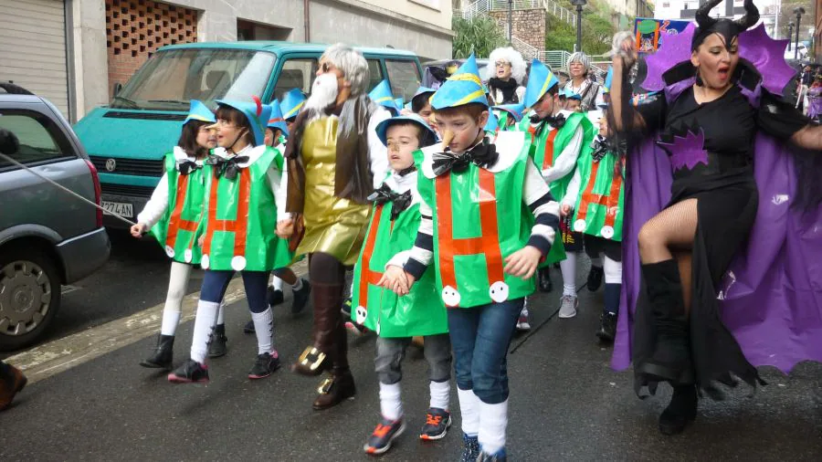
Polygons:
M208 227L205 232L205 243L203 245L203 255L211 253L211 241L216 231L234 233L234 256L246 255L246 238L248 229L248 204L251 200L251 172L250 169L240 170L239 184L237 185L239 194L237 197L237 216L234 220L216 219L217 191L219 190L218 178L215 177L211 184L211 193L208 199Z

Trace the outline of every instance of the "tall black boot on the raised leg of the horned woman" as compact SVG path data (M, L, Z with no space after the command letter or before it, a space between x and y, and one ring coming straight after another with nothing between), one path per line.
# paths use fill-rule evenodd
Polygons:
M674 259L642 265L650 310L657 331L656 347L638 371L671 384L694 383L690 362L688 314L682 299L680 268Z

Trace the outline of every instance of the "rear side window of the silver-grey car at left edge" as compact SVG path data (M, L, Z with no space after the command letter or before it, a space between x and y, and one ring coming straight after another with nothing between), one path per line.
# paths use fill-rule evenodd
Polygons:
M9 110L0 113L0 129L10 131L20 147L9 155L26 165L43 163L67 156L74 157L58 127L46 116L28 110ZM54 134L52 134L54 133ZM4 152L8 154L8 152ZM0 159L0 169L11 163Z

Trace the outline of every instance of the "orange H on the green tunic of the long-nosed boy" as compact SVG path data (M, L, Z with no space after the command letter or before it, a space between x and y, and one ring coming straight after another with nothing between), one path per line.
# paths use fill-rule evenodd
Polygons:
M482 234L479 237L454 238L451 176L437 177L435 187L437 189L437 234L440 242L439 272L443 287L457 288L454 257L458 255L484 254L489 286L503 280L494 174L485 169L479 169L479 222L482 228Z

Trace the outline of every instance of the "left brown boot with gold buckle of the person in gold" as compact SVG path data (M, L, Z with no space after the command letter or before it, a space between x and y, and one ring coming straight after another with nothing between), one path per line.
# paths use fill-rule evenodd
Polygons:
M342 327L342 284L311 283L314 302L313 344L300 354L291 370L301 375L316 376L332 369ZM342 327L344 335L345 328ZM344 337L343 337L344 339Z

